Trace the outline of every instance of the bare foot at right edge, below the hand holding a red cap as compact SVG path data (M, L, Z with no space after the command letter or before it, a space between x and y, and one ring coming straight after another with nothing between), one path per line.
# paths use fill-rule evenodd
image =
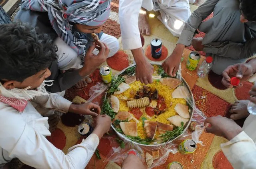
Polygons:
M248 102L249 100L238 100L234 104L232 104L232 107L230 109L230 118L232 120L239 120L248 117L250 114L247 110Z

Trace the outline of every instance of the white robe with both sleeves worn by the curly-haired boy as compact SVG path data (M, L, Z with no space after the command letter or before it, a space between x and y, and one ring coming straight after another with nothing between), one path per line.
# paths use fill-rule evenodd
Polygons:
M58 94L38 96L33 101L64 112L71 105ZM22 114L0 102L0 164L17 157L36 169L84 169L99 144L98 136L91 134L65 155L45 138L50 136L47 120L29 101Z

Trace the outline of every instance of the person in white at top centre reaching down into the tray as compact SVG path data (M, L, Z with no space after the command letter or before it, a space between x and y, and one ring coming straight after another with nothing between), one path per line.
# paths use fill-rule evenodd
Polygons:
M123 49L131 50L136 62L136 79L142 83L152 83L153 67L143 52L140 33L150 35L145 10L160 12L159 19L167 29L179 37L186 20L191 15L189 0L120 0L119 20ZM139 23L139 24L138 24Z

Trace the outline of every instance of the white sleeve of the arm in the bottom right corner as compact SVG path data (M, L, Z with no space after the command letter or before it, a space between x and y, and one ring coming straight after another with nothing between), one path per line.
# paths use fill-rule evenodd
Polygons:
M245 132L220 147L234 169L256 169L256 145Z

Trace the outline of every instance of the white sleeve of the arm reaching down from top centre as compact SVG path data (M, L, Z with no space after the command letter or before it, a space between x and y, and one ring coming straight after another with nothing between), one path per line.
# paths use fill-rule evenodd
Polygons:
M143 0L120 0L119 21L123 49L132 50L142 47L138 27L139 11Z

